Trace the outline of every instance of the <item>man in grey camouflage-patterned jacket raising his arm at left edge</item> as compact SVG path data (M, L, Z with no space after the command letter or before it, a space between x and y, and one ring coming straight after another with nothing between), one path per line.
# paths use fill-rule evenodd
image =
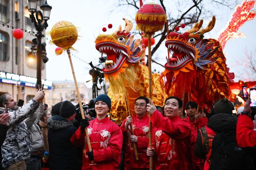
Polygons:
M21 108L11 94L0 96L1 162L6 170L26 170L25 160L31 155L28 126L33 122L25 119L34 116L44 95L43 90L37 91L34 98Z

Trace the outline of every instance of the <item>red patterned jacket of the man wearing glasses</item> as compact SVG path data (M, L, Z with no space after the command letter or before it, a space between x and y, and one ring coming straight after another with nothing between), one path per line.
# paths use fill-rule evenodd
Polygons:
M147 156L148 148L148 124L149 118L145 114L143 117L139 118L137 115L132 117L134 135L138 137L136 143L139 160L135 159L135 152L133 143L130 140L131 129L128 126L128 130L125 129L126 119L121 124L121 130L125 138L125 156L124 156L124 167L125 168L149 168L149 157Z

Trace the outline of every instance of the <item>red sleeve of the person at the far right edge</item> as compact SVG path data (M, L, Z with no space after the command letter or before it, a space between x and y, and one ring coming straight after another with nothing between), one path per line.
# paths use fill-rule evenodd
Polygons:
M256 131L253 122L247 115L239 115L236 126L236 140L240 147L256 146Z

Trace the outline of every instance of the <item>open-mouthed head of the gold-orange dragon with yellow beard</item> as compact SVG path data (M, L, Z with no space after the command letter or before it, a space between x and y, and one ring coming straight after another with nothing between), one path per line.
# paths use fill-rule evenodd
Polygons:
M96 49L101 52L101 55L107 55L103 65L104 74L123 72L124 67L128 66L127 62L139 63L145 55L144 50L141 50L141 40L134 40L134 35L130 33L133 27L132 22L128 19L123 20L126 22L124 30L119 25L117 31L112 34L100 34L95 40Z

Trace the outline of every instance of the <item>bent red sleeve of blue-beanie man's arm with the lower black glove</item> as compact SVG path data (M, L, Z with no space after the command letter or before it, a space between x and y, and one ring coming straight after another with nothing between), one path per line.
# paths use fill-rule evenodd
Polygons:
M94 161L110 161L117 159L121 154L123 135L121 129L116 125L113 126L113 133L108 142L108 147L100 150L93 150Z

